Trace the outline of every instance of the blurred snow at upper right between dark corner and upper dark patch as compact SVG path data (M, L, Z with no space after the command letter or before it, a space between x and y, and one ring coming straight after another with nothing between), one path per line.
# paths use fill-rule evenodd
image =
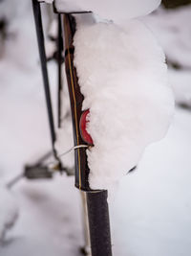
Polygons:
M184 68L191 68L191 6L173 11L159 9L155 15L144 17L144 22L153 30L167 58ZM172 47L173 46L173 47Z

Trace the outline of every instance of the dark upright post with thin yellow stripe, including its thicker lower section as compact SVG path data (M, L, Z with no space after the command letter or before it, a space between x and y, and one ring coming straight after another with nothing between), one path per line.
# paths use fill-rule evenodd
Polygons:
M71 100L74 145L84 144L79 132L79 120L84 100L74 67L75 20L71 14L63 19L65 37L65 67ZM84 38L85 39L85 38ZM83 59L81 59L83 61ZM97 159L98 160L98 159ZM89 187L89 167L84 149L75 151L75 186L86 192L92 256L112 256L107 191L92 191Z

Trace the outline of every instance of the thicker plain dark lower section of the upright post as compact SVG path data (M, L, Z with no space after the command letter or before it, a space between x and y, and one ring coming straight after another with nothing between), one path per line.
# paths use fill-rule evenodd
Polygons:
M92 256L112 256L107 191L87 193Z

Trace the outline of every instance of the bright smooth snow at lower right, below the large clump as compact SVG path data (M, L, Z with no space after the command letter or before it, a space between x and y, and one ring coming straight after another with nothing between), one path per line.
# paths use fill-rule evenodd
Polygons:
M112 208L114 255L190 255L190 128L190 112L177 108L166 138L121 180Z

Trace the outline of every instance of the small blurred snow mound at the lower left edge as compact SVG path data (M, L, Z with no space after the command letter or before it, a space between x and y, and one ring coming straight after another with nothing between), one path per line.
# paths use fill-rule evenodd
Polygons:
M0 186L0 242L18 217L18 208L7 188Z

